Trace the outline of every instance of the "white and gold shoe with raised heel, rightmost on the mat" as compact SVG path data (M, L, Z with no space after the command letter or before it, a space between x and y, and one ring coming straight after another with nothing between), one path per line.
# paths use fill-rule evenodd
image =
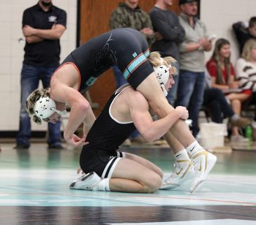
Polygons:
M192 162L194 163L195 168L195 180L192 183L190 192L193 193L201 186L204 180L206 180L209 172L214 167L217 161L217 157L208 151L203 150L199 153L195 153L192 156Z

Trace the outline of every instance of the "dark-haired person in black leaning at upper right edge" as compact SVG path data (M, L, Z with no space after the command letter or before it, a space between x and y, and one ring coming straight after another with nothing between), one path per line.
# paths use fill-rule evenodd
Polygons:
M256 17L252 17L248 22L238 22L233 24L233 31L236 34L236 39L239 45L240 54L243 51L244 44L247 40L256 39Z

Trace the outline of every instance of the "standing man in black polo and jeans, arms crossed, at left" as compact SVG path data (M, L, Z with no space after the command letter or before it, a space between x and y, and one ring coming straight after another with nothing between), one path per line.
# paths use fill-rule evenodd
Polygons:
M30 146L31 123L26 113L26 99L38 88L42 80L44 88L50 85L50 77L59 66L59 39L66 29L67 14L53 6L51 0L39 0L23 12L23 34L26 38L25 55L21 71L20 125L16 139L17 149ZM61 123L48 123L49 148L62 148Z

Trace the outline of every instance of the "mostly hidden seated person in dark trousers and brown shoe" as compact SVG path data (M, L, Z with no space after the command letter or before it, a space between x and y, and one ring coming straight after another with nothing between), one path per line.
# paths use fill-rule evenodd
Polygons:
M228 104L225 95L219 88L211 87L211 76L206 71L206 89L203 95L203 106L211 111L211 121L222 123L223 117L229 118L232 126L241 126L242 128L251 124L247 118L237 115L230 104Z

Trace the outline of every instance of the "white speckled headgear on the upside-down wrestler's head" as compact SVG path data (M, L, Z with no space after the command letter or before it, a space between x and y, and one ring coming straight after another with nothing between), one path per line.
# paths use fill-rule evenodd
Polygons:
M34 105L34 112L34 115L37 115L41 121L50 117L55 112L60 116L63 116L67 113L66 110L56 110L56 103L49 97L41 97L39 100L37 100L36 104Z

